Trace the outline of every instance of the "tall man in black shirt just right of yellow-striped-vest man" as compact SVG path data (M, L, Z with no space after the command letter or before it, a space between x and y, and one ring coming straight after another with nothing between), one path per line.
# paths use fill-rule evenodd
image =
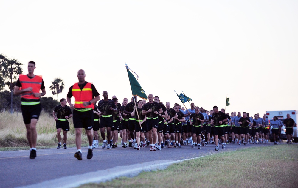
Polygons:
M107 147L111 149L111 128L114 126L112 114L117 111L115 102L111 99L108 99L108 92L103 91L103 99L98 102L98 111L100 113L100 135L103 138L102 149ZM105 140L105 129L107 129L107 140ZM117 130L118 132L118 130Z

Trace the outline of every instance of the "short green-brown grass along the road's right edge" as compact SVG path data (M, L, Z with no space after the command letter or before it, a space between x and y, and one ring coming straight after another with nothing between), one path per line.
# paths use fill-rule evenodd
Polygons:
M91 187L296 187L298 145L255 147L188 160Z

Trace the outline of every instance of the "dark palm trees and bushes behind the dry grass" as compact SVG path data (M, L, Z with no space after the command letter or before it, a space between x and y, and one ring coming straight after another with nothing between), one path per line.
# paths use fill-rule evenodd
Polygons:
M0 112L3 110L21 111L21 97L13 95L13 89L23 69L17 59L9 59L4 54L0 54ZM55 106L59 105L58 94L64 89L61 78L55 78L49 87L53 97L41 97L41 106L44 111L52 113Z

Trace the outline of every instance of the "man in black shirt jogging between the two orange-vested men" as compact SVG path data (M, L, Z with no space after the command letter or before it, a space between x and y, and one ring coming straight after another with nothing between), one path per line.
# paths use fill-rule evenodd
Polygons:
M67 106L66 99L60 100L60 105L56 106L53 111L54 120L56 121L56 129L57 129L57 139L58 146L57 149L61 147L61 130L63 130L63 148L67 149L66 141L67 141L67 132L69 131L69 122L67 121L72 117L72 110ZM56 116L57 114L57 116Z

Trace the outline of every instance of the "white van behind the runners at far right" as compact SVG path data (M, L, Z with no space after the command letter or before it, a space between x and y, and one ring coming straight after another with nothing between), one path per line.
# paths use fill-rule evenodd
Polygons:
M297 110L280 110L280 111L266 111L266 116L268 116L268 119L270 121L273 120L273 117L276 116L279 120L282 122L287 118L287 114L290 114L291 118L295 121L294 130L293 130L293 138L294 142L298 142L298 130L297 130L297 119L298 114ZM281 136L284 137L283 131L285 131L285 126L283 125Z

